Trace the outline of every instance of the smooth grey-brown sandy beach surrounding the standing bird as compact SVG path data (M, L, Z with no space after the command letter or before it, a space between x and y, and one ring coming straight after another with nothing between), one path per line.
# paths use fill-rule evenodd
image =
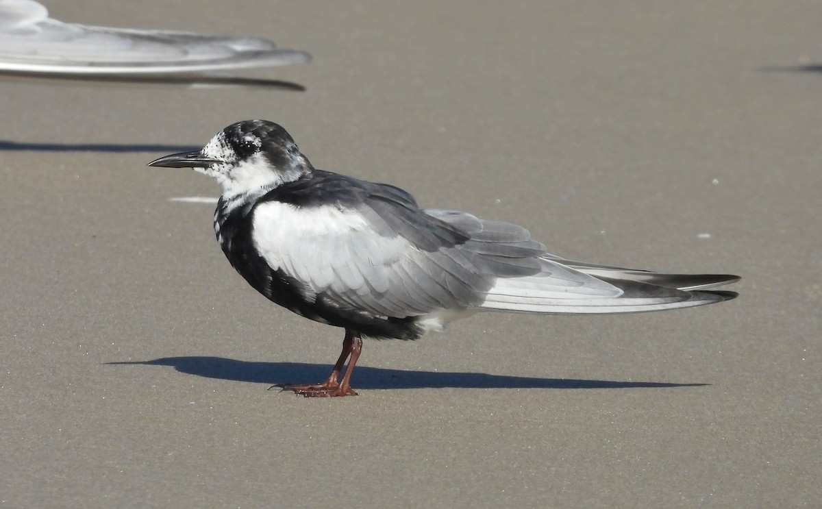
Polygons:
M822 3L48 7L313 62L0 76L0 507L822 504ZM357 397L268 391L326 377L342 331L233 271L215 183L145 167L247 118L562 257L738 274L741 295L483 313L367 340Z

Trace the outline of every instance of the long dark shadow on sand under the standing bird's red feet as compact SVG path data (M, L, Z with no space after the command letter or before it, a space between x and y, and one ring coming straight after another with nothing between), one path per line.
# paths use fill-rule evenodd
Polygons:
M171 366L178 372L198 377L275 386L288 383L316 383L328 377L330 365L309 363L257 363L222 357L166 357L147 361L107 364ZM481 372L431 372L358 366L354 373L358 389L629 389L640 387L707 386L706 383L621 382L576 380L571 378L508 377Z

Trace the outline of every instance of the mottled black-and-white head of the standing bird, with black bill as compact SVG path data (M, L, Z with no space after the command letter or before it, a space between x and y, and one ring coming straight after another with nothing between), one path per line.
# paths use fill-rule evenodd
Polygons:
M227 197L273 189L312 171L289 133L266 120L233 123L201 150L166 155L148 165L195 169L214 178Z

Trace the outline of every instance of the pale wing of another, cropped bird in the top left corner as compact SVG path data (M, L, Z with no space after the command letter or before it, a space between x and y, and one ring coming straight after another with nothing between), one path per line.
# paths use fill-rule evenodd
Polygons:
M75 25L33 0L0 0L0 72L154 76L310 60L266 39Z

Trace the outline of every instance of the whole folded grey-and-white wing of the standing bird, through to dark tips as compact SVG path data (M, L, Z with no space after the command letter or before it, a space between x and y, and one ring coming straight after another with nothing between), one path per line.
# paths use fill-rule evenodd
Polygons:
M253 217L256 247L270 266L337 308L421 317L436 327L472 309L637 312L734 295L686 291L732 276L689 279L566 261L545 252L520 226L457 211L422 211L393 187L357 185L366 197L350 206L267 201Z

